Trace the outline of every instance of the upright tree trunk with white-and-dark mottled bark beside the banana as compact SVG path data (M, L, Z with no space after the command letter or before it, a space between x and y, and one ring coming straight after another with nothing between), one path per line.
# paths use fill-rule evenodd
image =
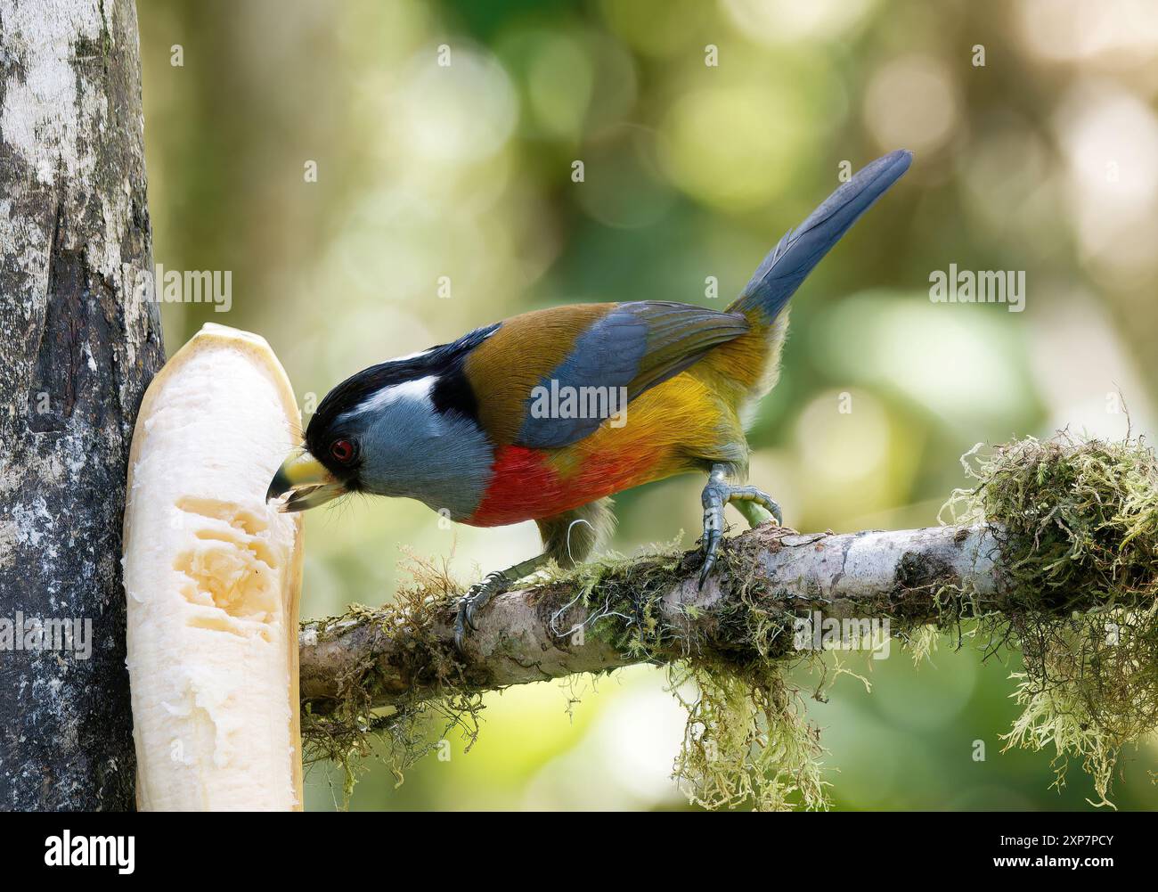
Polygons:
M0 650L0 809L130 809L120 522L163 361L134 293L152 239L132 0L0 0L0 623L91 621L88 659Z

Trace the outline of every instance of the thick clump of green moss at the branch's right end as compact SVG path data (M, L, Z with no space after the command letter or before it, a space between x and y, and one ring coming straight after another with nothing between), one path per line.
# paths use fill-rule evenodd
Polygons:
M980 629L1019 648L1024 708L1004 739L1077 759L1109 804L1122 747L1158 728L1158 463L1139 439L1021 440L967 456L948 506L994 525L1009 606ZM1091 604L1097 605L1090 609Z

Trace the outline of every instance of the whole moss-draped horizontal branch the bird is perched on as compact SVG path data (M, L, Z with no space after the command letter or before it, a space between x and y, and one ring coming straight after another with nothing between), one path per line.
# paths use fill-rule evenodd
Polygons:
M401 770L425 752L423 716L472 737L482 692L654 663L688 707L675 776L692 802L823 807L823 748L785 675L818 665L815 623L798 633L819 615L841 621L843 646L877 631L919 655L932 629L1019 651L1024 711L1006 744L1053 748L1058 785L1078 759L1107 804L1121 748L1158 728L1158 461L1141 440L1064 433L979 449L951 526L764 526L726 541L702 591L697 551L586 564L496 598L464 655L459 586L416 562L394 604L302 627L307 747L346 766L349 792L372 732ZM698 694L684 700L688 680Z

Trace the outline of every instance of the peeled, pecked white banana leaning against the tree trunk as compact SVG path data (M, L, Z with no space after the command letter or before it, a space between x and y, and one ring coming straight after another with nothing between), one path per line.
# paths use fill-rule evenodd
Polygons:
M269 344L223 326L145 395L124 535L141 810L301 809L301 517L265 503L300 429Z

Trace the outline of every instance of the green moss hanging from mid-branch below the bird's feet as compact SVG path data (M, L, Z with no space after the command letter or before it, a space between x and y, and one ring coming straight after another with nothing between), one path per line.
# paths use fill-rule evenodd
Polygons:
M690 803L762 811L827 806L820 732L807 722L802 692L787 680L792 617L761 606L745 548L724 549L719 557L733 598L711 626L694 624L694 607L686 610L692 622L664 619L659 600L698 561L697 553L672 547L630 561L595 561L565 578L579 584L591 610L587 635L668 666L669 690L688 712L673 775ZM791 653L796 661L820 663L816 655Z

